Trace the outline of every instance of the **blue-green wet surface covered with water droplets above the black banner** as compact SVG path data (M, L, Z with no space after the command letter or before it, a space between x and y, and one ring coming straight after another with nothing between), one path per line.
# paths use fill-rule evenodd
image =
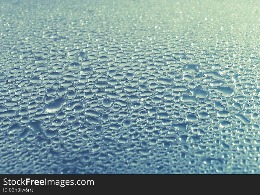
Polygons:
M258 12L214 4L3 1L1 173L260 173Z

